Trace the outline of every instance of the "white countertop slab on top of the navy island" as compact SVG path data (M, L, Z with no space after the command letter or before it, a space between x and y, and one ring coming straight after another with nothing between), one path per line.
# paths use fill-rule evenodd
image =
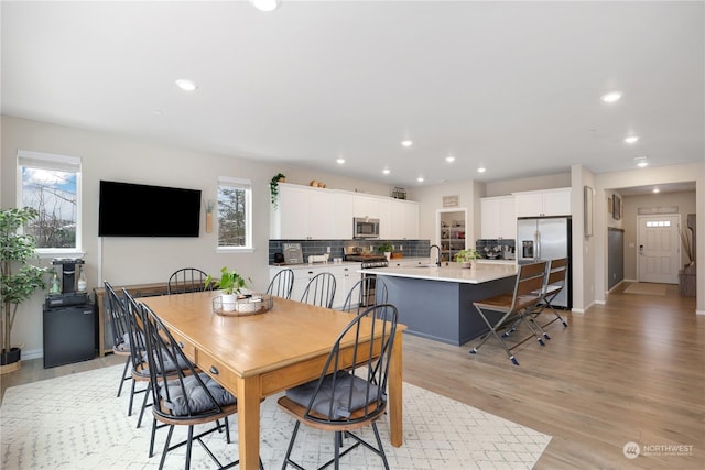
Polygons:
M496 281L516 275L517 265L497 263L473 263L473 267L470 269L443 265L441 267L376 267L372 270L360 270L359 272L377 274L379 276L395 276L414 280L481 284L485 282Z

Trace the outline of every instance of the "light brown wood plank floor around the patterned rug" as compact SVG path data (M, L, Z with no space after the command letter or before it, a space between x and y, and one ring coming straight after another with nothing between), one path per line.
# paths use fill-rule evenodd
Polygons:
M405 335L404 380L553 436L536 469L705 468L705 316L695 299L623 294L586 314L562 313L544 348L528 341L512 365L494 339L443 345ZM43 369L42 360L0 376L9 386L122 363L108 356ZM116 381L117 386L117 381ZM642 456L623 456L627 442ZM663 447L692 446L669 455ZM651 456L643 456L651 446ZM683 449L681 449L683 450Z

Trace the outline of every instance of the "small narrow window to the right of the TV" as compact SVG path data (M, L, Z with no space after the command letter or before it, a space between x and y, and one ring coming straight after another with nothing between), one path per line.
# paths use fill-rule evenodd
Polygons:
M252 185L218 177L218 248L252 249Z

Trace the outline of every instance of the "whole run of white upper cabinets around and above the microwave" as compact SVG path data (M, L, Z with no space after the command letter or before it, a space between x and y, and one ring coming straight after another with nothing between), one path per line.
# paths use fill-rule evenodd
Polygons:
M349 240L352 218L380 219L381 239L419 238L419 203L338 189L279 184L270 239Z

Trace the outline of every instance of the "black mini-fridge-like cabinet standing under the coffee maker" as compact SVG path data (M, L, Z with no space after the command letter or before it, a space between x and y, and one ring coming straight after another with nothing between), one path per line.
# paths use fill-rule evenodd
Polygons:
M95 357L94 305L44 306L44 369Z

